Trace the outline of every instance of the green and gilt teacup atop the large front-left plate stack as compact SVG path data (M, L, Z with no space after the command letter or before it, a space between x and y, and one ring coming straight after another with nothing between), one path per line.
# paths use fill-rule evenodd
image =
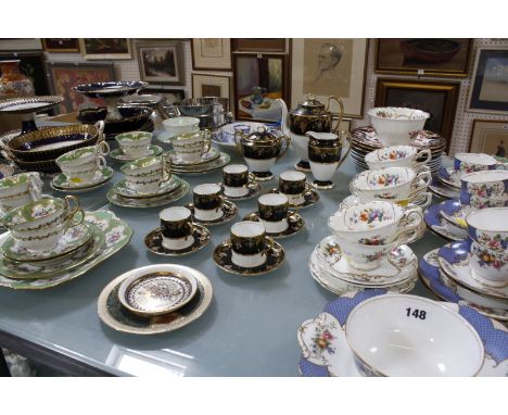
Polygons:
M49 251L68 227L79 225L85 215L74 196L45 198L8 213L3 225L20 247L30 251Z

